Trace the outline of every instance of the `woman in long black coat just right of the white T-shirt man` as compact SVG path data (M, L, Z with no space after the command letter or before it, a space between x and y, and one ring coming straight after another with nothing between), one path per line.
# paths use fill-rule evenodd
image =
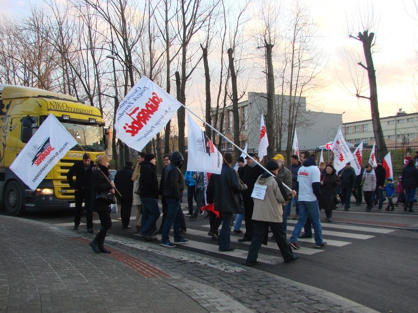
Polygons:
M337 194L338 177L331 164L327 164L325 171L321 173L321 196L319 207L324 209L327 221L332 221L332 210L335 209L335 196Z

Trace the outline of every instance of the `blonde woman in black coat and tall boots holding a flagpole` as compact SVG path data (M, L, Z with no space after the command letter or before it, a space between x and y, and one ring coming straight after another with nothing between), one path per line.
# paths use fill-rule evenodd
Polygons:
M91 176L91 187L92 187L92 199L91 209L93 212L97 212L100 218L101 227L93 241L89 243L94 252L110 253L109 250L104 248L104 238L106 237L107 231L112 227L112 219L110 218L110 204L101 202L96 199L97 192L115 193L115 184L109 180L109 161L110 158L105 154L99 154L96 157L96 166L94 167L93 174Z

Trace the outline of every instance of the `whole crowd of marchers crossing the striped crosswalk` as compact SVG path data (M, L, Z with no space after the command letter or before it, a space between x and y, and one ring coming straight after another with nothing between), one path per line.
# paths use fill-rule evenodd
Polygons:
M265 167L261 167L258 163L260 159L248 153L245 158L238 158L237 169L233 167L232 153L227 152L223 155L220 174L186 171L183 175L183 160L178 151L164 154L164 168L158 182L156 155L140 152L135 169L133 163L127 161L125 168L117 171L114 182L111 182L109 157L101 154L93 162L89 154L84 153L83 160L76 162L67 174L69 185L75 190L74 229L78 230L84 203L87 231L94 233L92 212L98 213L101 222L90 246L97 253L110 253L104 248L104 239L112 225L110 203L116 196L120 203L122 229L131 228L133 204L136 207L135 233L145 241L157 241L155 235L160 234L160 244L165 247L187 243L188 240L183 238L187 227L181 208L186 188L186 217L191 221L197 220L203 208L207 208L208 235L217 241L219 251L234 250L231 246L231 227L234 225L233 232L240 234L242 220L245 220L245 233L238 241L251 242L246 263L256 265L261 244L267 244L268 232L272 233L285 263L299 258L297 253L292 252L292 249L300 249L299 238L312 238L314 235L314 247L325 247L327 242L322 238L320 210L325 212L326 221L332 222L332 212L339 203L344 206L344 211L350 210L352 194L356 205L361 205L364 197L366 212L370 212L375 205L382 210L386 200L387 211L403 203L404 211L414 212L412 207L416 201L418 169L417 160L412 158L406 160L396 186L392 177L386 180L382 160L377 161L375 169L367 163L356 175L350 163L339 172L332 164L321 162L318 165L316 154L309 151L301 152L300 159L298 155L292 155L288 168L284 166L285 158L281 154L276 154L266 162ZM108 194L109 201L99 197L100 193ZM159 228L158 200L161 200L163 213ZM287 219L292 203L296 207L297 223L287 239ZM173 242L169 236L171 229Z

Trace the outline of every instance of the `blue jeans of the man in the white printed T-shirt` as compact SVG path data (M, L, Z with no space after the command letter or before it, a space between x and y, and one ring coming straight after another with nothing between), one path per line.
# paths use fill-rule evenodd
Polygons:
M319 221L319 206L318 200L315 201L299 201L299 219L293 229L290 242L296 242L299 238L302 227L306 223L307 217L311 218L313 225L313 231L315 233L315 244L321 244L322 240L322 227Z

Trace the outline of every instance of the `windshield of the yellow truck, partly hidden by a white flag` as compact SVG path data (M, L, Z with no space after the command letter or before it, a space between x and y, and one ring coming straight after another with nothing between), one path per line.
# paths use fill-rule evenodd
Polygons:
M86 151L103 151L103 127L99 125L83 125L62 123L79 145ZM73 150L81 150L76 145Z

